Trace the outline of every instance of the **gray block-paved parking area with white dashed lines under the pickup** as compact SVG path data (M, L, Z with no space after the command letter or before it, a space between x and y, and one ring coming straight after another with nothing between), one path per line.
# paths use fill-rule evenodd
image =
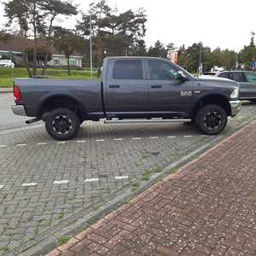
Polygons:
M229 136L256 113L256 105L245 102L218 137L183 124L85 122L79 137L56 142L40 123L22 128L24 118L10 113L10 94L0 102L0 254L13 255L40 251L53 236L49 244L56 244L63 228Z

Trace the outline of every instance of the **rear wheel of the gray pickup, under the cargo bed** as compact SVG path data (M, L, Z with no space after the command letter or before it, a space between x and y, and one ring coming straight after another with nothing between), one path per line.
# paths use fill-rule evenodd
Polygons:
M45 120L45 128L49 136L59 141L67 141L75 137L79 126L79 117L67 108L56 108Z

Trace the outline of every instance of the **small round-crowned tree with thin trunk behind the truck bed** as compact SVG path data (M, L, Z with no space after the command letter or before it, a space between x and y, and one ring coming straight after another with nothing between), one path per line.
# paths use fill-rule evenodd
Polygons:
M81 49L84 45L83 38L81 38L73 30L62 28L61 26L54 27L54 46L60 52L63 51L67 58L68 76L70 76L70 56L75 50Z

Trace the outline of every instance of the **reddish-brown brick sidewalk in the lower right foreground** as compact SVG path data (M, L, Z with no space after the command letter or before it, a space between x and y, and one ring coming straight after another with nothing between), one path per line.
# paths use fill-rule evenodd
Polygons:
M48 255L256 255L256 123Z

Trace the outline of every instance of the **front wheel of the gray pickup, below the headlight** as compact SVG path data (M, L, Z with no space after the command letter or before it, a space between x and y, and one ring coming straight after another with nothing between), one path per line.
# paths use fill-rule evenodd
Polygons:
M216 135L227 125L227 113L218 105L206 105L195 115L196 127L207 135Z

